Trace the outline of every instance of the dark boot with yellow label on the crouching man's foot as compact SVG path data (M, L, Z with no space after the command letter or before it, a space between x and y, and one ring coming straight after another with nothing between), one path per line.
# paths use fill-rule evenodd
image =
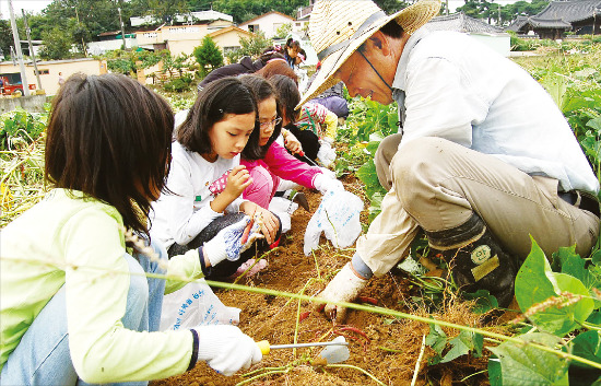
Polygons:
M455 229L426 232L429 246L440 250L455 283L466 292L488 290L506 308L514 299L517 258L503 250L478 214Z

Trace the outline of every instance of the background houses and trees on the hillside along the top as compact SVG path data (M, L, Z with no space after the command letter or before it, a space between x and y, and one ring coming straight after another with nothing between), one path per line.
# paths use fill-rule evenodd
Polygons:
M170 3L180 5L186 3L174 1ZM22 26L17 31L20 31L20 48L24 52L22 57L24 58L25 74L21 74L23 70L16 62L17 55L14 43L7 44L4 42L4 48L0 45L0 49L2 49L0 59L4 58L4 61L0 62L0 75L12 84L23 84L23 78L25 78L27 86L24 89L32 89L33 85L34 90L44 90L49 95L56 93L61 78L68 77L74 71L86 73L117 71L134 74L142 83L153 84L157 81L167 81L173 77L180 78L185 73L193 73L196 65L197 74L202 77L212 69L212 66L207 67L207 71L199 70L193 56L195 49L201 46L205 38L210 38L220 50L223 63L228 63L239 60L245 55L258 55L259 51L255 47L257 45L282 45L287 37L293 36L302 43L306 51L307 58L303 66L315 66L317 57L307 36L313 2L314 0L298 2L303 7L297 7L288 14L275 10L255 14L254 12L257 12L257 9L252 8L255 5L248 5L248 12L245 13L248 19L244 21L241 21L244 16L237 11L228 14L214 9L195 11L188 8L187 12L181 12L186 8L174 5L172 9L165 8L154 10L154 12L138 11L140 14L131 14L127 17L127 13L134 12L134 10L123 9L121 12L120 8L117 10L104 8L97 15L96 24L93 24L94 10L91 9L87 12L84 10L86 4L93 8L92 4L79 0L81 11L78 11L75 7L78 25L81 28L85 25L94 25L96 31L107 31L95 35L91 34L91 31L85 34L81 32L80 38L72 43L68 42L67 32L60 33L60 36L55 36L55 38L51 34L49 35L47 30L45 33L42 32L44 28L40 28L37 23L43 21L40 19L43 16L16 13L16 24ZM76 3L78 1L75 1ZM192 3L195 2L189 1L186 4ZM382 3L385 3L384 0ZM198 3L195 4L198 7ZM498 5L497 13L493 12L491 5L488 9L479 9L479 13L474 14L474 8L471 7L470 1L467 1L466 5L458 8L455 13L449 14L447 10L443 10L441 15L431 22L431 27L471 34L485 40L505 56L508 56L510 50L507 32L529 38L550 39L587 34L594 36L601 32L601 0L551 1L543 4L544 8L535 14L523 14L525 10L522 9L519 11L520 14L515 15L510 23L507 23L506 11L510 7L519 10L518 5L519 2L504 5L503 13L500 5ZM222 8L226 9L227 7ZM386 9L384 5L382 8ZM388 4L388 9L392 10L392 7ZM72 19L69 14L61 12L59 3L52 3L45 11L45 16L57 15L60 23ZM113 24L108 23L107 15L110 14L121 17L120 24L115 25L114 21ZM30 38L30 43L23 31L25 19L28 19L30 31L34 35L33 38ZM237 20L240 22L236 22ZM111 27L113 30L110 30ZM4 30L7 31L5 27ZM75 36L78 36L76 33L71 34L71 38ZM62 46L57 47L59 44ZM8 48L5 48L7 46ZM131 55L123 54L128 51L141 54L139 58L132 59ZM168 62L163 60L166 51L169 52ZM154 58L152 58L153 56ZM34 57L38 69L33 63ZM8 60L9 58L10 60ZM168 69L165 69L165 65ZM27 93L26 90L23 92Z

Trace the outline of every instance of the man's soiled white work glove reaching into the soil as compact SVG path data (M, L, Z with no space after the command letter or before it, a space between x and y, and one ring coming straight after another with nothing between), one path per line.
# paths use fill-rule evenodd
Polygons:
M334 302L352 302L358 296L367 281L367 279L357 277L351 269L351 262L346 262L317 297ZM321 306L318 306L318 309ZM346 317L346 308L333 304L327 304L323 312L337 323L342 323Z

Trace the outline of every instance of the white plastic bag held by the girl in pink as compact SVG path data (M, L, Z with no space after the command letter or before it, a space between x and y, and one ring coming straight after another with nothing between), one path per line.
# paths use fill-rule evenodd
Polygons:
M307 224L305 255L317 248L321 232L337 248L351 246L361 234L362 210L363 201L357 196L346 190L329 190Z

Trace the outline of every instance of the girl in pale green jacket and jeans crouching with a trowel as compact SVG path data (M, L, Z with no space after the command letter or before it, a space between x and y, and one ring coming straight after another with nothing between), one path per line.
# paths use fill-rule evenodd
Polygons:
M145 385L197 361L231 375L261 360L234 326L156 332L163 294L185 283L152 274L202 277L199 250L167 260L158 244L150 245L154 253L132 249L123 234L149 239L172 128L168 104L123 75L75 74L62 85L46 140L54 189L2 231L0 384ZM244 249L248 221L204 249L223 250L220 258Z

